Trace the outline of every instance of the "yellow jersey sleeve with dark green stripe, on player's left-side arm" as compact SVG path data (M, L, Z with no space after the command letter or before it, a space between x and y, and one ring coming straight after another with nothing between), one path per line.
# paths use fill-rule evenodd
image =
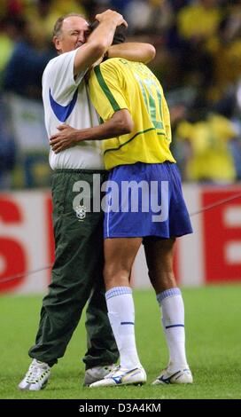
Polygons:
M106 60L95 67L89 77L89 95L97 114L105 122L122 108L128 108L123 94L121 68Z

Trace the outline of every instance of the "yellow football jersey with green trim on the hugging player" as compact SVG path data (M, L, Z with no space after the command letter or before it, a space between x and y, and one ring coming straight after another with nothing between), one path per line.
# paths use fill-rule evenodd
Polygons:
M89 78L89 94L102 121L127 108L134 130L103 141L105 168L136 162L175 162L170 152L170 117L162 87L144 64L107 59Z

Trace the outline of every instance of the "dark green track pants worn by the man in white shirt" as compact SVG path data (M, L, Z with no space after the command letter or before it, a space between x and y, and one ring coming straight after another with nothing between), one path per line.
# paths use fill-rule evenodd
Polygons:
M86 181L93 200L93 171L64 169L52 178L55 263L49 293L43 307L35 346L29 356L57 363L82 316L86 312L88 350L83 358L86 368L116 362L118 350L107 316L103 280L103 213L86 212L82 220L73 209L77 181ZM101 183L106 179L100 175ZM82 193L82 189L80 189ZM97 190L99 193L99 190Z

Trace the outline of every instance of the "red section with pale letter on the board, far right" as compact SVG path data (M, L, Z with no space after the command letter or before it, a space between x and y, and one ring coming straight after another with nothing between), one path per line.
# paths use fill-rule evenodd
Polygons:
M206 282L241 280L241 195L236 198L238 194L237 189L227 188L202 191L202 205L207 208L202 216Z

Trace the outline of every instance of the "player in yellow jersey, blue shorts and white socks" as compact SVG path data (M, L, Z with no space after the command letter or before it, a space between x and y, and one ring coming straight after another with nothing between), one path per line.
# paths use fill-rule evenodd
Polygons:
M102 134L110 170L105 208L105 287L108 316L121 364L91 386L142 384L146 374L136 351L135 312L129 277L144 244L149 277L162 311L170 358L154 384L191 383L185 354L183 297L173 271L175 238L192 232L175 159L169 150L167 103L148 67L107 59L89 78L90 98L103 124L64 126L51 146L58 153Z

